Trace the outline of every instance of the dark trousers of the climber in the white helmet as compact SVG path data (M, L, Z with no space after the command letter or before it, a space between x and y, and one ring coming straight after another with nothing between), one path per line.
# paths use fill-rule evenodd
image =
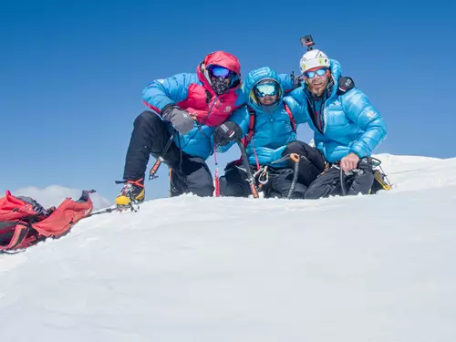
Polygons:
M367 159L361 159L358 163L358 169L348 175L344 173L342 181L347 195L368 194L374 182L372 165ZM340 169L333 166L309 186L305 198L316 200L342 194Z

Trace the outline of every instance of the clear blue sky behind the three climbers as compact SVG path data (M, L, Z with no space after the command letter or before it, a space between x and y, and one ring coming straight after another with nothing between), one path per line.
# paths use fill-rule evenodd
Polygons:
M194 72L214 50L296 73L299 37L337 59L388 125L376 152L456 157L455 5L401 1L36 1L0 12L0 191L59 184L119 192L151 80ZM446 2L446 4L450 4ZM299 129L300 139L311 133ZM238 158L219 155L223 170ZM213 169L212 159L208 161ZM151 165L152 161L150 161ZM166 171L148 181L163 197Z

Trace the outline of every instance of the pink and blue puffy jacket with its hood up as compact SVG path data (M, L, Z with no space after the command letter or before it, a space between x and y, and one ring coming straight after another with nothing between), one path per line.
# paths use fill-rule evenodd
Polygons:
M238 78L228 92L219 96L213 92L206 71L210 65L227 67L237 74ZM184 152L205 160L212 152L213 130L245 103L241 84L239 60L229 53L216 51L204 58L196 74L181 73L154 80L144 88L142 99L158 114L165 106L177 104L194 115L197 120L193 130L176 135L174 142ZM169 130L173 130L171 125Z

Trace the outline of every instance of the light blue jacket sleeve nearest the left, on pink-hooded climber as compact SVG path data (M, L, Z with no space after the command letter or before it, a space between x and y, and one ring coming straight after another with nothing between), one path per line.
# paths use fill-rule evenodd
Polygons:
M142 91L142 99L156 109L180 102L187 98L189 87L197 83L195 74L178 74L171 78L156 79Z

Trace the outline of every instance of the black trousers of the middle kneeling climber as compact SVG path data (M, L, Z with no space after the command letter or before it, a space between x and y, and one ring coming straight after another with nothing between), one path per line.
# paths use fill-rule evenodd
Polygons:
M252 173L256 170L251 167ZM263 185L264 198L286 198L293 181L294 171L290 168L269 168L269 181ZM247 180L247 172L244 166L237 167L233 163L228 164L225 173L220 177L221 196L248 197L252 194ZM306 192L306 186L296 182L292 199L302 199Z

